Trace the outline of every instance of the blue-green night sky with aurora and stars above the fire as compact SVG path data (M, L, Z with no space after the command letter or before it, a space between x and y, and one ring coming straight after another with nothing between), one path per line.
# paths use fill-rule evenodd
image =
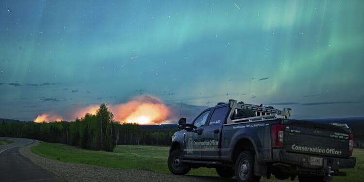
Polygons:
M363 0L1 0L0 118L138 96L364 116Z

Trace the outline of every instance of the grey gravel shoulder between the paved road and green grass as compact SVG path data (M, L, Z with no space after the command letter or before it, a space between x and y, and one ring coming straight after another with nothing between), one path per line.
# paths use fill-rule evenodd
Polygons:
M68 182L235 182L235 179L206 176L179 176L142 169L108 168L95 165L64 163L40 157L31 152L38 141L19 149L19 153ZM270 180L269 180L270 181ZM263 180L261 182L264 182ZM265 181L268 182L268 181ZM274 181L277 182L277 181Z

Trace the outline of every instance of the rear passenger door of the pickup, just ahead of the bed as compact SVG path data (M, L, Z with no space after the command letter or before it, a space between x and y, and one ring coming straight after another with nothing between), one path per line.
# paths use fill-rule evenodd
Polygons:
M218 107L212 113L209 122L203 127L201 158L202 159L219 159L220 158L220 136L221 129L229 108Z

